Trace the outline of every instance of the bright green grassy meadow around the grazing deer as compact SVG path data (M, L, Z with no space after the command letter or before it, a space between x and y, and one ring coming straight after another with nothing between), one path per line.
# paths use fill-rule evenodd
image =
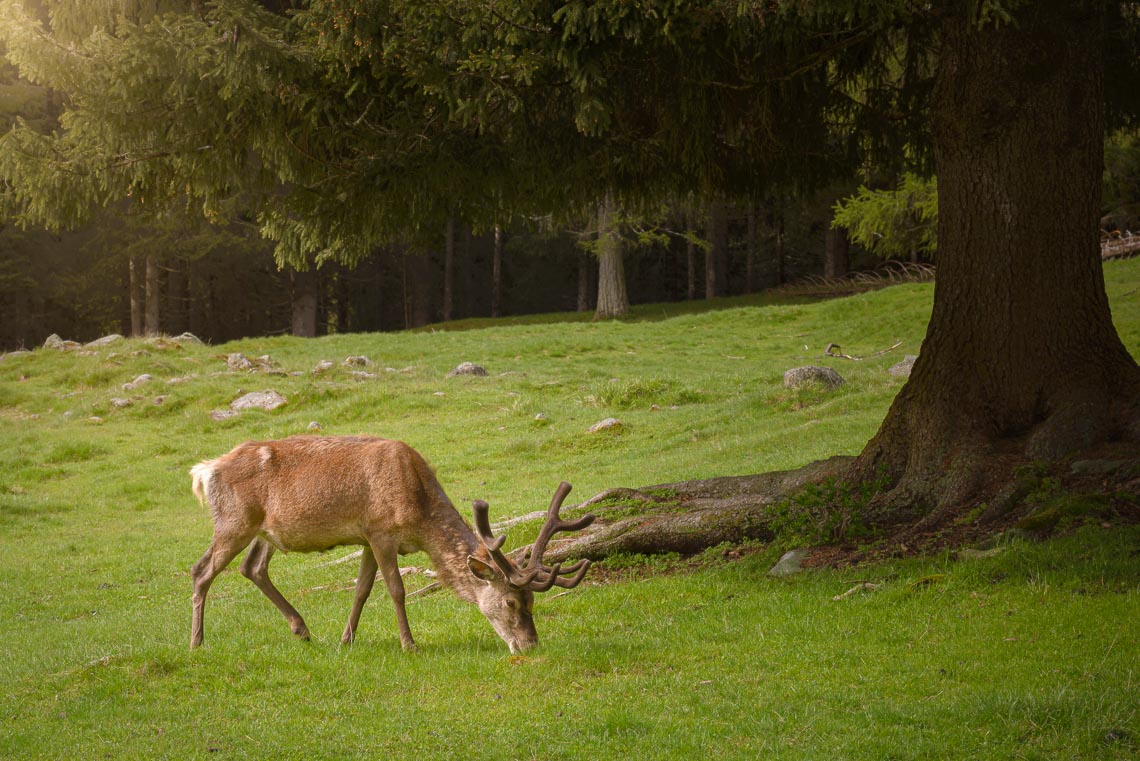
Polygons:
M1105 271L1140 355L1140 260ZM0 359L0 758L1140 758L1140 529L1099 522L789 579L767 575L787 547L622 558L604 583L539 596L542 641L521 656L450 594L409 602L420 652L402 653L380 584L342 647L350 549L278 555L312 641L235 562L188 649L189 568L211 533L187 474L202 459L311 423L400 439L469 519L472 499L502 519L544 509L562 480L569 505L855 453L902 387L887 368L918 353L933 288ZM829 343L868 359L823 359ZM229 370L230 353L271 369ZM321 360L335 367L314 373ZM489 375L447 377L464 361ZM803 365L847 383L783 388ZM264 390L287 403L210 415ZM586 433L606 417L622 425ZM508 548L534 530L508 530ZM877 588L833 599L861 582Z

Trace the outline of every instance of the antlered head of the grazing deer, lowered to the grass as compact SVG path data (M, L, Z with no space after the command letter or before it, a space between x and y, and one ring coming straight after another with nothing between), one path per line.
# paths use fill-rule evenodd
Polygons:
M467 557L467 567L486 582L475 592L475 602L512 653L521 653L538 644L534 619L535 592L545 592L553 587L577 587L589 570L589 560L579 560L565 568L559 563L543 565L543 553L551 537L559 531L579 531L594 521L593 515L577 521L559 517L559 508L569 493L570 484L563 481L554 492L546 522L530 547L526 565L516 564L503 553L506 537L494 535L487 502L475 500L473 504L475 532L482 547L478 554Z

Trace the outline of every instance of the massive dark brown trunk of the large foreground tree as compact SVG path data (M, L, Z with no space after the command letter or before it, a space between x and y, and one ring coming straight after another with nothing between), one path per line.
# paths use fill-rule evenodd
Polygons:
M1140 439L1140 370L1097 245L1102 36L1094 0L1032 3L997 26L944 22L934 311L854 469L898 480L885 522L935 524L1018 461Z

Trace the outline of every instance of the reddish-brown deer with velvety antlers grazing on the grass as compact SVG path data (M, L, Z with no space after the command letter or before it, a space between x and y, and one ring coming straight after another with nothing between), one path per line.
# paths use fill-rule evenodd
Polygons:
M555 533L580 531L594 521L593 515L576 521L560 517L569 483L557 486L538 538L515 563L503 551L506 537L494 535L488 504L472 502L472 530L423 456L400 441L310 435L247 441L195 465L190 478L194 494L209 506L213 518L210 547L190 570L192 649L203 641L210 584L246 547L242 575L277 606L299 639L308 640L304 619L269 579L269 560L278 550L314 553L361 546L356 594L341 643L355 641L378 568L405 650L415 650L416 644L405 609L399 555L426 553L439 582L459 599L475 604L511 653L538 644L535 594L554 587L572 589L589 570L589 559L565 567L543 564Z

